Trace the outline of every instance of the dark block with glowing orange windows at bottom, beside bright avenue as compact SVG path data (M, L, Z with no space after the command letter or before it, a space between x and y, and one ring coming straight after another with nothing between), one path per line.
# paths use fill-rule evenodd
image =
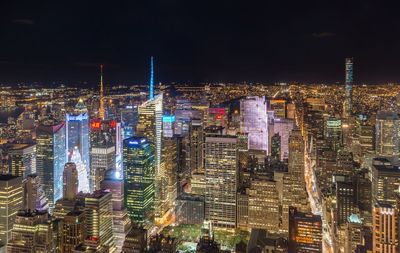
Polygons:
M322 252L322 220L289 208L289 253Z

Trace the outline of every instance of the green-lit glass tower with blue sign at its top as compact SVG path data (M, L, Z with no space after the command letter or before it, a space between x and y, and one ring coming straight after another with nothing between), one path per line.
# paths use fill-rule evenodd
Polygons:
M152 220L154 208L155 152L144 137L124 140L125 206L138 224Z

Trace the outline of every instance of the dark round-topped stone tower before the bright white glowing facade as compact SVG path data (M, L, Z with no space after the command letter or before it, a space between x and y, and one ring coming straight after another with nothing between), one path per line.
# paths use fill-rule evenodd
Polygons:
M63 198L73 200L78 194L78 171L75 163L68 162L63 172Z

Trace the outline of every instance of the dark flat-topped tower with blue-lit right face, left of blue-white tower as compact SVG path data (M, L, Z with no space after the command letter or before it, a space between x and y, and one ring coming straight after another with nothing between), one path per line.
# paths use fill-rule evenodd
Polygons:
M62 198L62 173L66 159L64 123L46 122L36 130L36 170L48 199L50 212Z

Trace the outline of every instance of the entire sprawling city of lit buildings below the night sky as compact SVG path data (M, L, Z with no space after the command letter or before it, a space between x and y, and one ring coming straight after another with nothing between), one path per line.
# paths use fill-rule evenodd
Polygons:
M345 87L1 92L23 110L0 127L0 252L400 252L400 102L345 66Z

